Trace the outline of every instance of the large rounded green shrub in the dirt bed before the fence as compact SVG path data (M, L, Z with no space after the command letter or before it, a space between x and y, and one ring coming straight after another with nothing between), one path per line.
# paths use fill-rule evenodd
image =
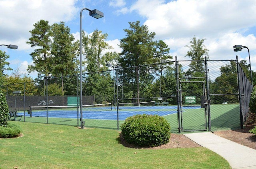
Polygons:
M170 139L170 124L158 115L140 115L126 118L121 125L124 139L136 146L155 147Z

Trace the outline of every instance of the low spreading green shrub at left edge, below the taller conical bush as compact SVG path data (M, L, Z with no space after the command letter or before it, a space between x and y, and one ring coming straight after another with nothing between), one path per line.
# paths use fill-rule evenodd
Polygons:
M22 132L20 126L14 123L8 123L6 127L0 126L0 138L13 138Z

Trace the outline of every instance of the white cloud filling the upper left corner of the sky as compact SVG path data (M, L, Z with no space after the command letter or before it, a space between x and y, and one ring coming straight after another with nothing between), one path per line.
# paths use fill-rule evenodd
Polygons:
M40 20L48 20L49 24L72 20L77 13L75 2L76 0L2 0L0 11L8 15L0 15L0 37L2 40L12 41L28 39L29 30Z

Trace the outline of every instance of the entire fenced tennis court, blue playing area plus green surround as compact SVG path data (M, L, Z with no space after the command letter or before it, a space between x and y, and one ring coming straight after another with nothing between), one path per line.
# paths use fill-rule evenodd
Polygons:
M26 122L39 122L63 125L80 125L80 110L76 107L54 108L48 107L48 118L46 107L43 110L32 108L32 114L25 113ZM154 105L123 105L117 110L114 105L83 106L83 120L86 127L120 129L124 120L136 114L157 114L163 116L171 126L171 132L178 132L177 105L154 106ZM23 112L19 112L22 114ZM184 106L182 108L182 120L184 130L201 129L205 126L204 108L200 106ZM212 129L223 130L239 128L240 113L239 104L212 104ZM31 117L30 117L31 115ZM117 120L118 118L118 120ZM22 121L24 118L22 118ZM46 121L48 120L48 121Z

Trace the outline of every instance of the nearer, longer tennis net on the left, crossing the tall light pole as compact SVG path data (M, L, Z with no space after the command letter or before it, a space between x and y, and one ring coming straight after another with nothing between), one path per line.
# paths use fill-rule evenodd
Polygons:
M73 117L80 114L80 106L31 106L30 117L61 116ZM83 113L112 110L111 103L83 105Z

